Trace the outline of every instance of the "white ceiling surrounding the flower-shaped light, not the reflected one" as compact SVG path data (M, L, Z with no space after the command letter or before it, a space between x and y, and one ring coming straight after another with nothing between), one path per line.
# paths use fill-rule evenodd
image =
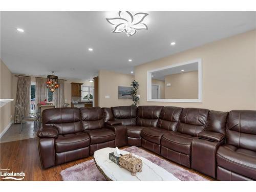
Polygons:
M1 12L1 58L12 73L91 79L256 27L255 12L144 12L148 30L132 37L112 33L105 18L118 11Z

